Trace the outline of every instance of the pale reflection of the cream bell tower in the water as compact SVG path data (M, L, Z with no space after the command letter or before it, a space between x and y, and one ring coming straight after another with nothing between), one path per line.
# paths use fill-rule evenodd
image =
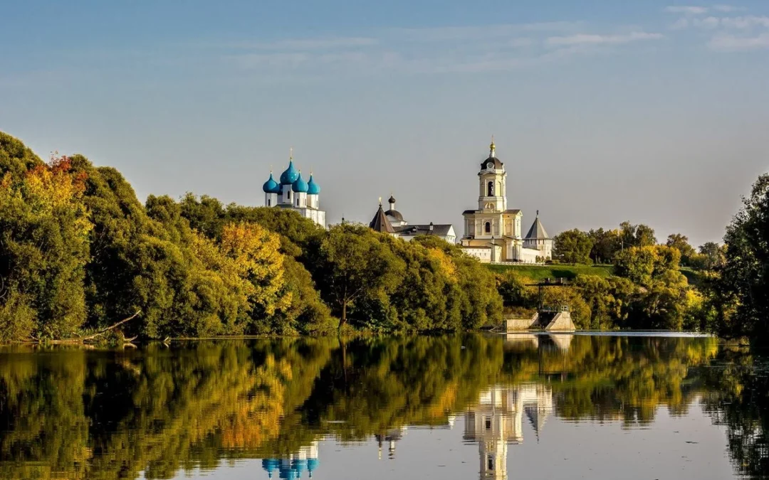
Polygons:
M523 417L539 432L553 411L549 386L530 383L495 386L481 393L478 404L464 415L465 442L478 442L481 480L508 478L508 445L523 442Z

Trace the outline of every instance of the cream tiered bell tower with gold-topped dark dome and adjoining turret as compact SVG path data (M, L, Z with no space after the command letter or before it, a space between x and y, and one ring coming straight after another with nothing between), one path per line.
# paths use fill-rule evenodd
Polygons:
M508 209L507 172L497 158L494 139L478 172L478 210L464 210L465 253L484 263L537 263L553 256L553 239L537 218L523 237L521 210Z

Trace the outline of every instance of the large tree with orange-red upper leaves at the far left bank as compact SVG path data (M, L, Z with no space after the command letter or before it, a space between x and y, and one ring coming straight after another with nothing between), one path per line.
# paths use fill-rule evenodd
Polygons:
M72 336L86 315L85 177L67 157L24 166L0 180L0 339Z

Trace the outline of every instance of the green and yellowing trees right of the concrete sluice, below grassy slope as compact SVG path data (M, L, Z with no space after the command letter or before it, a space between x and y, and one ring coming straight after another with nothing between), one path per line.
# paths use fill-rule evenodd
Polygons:
M578 276L549 293L567 297L584 328L691 329L769 342L769 174L759 177L734 215L724 243L695 249L680 233L658 243L647 225L567 230L554 260L613 264L613 276ZM691 281L690 281L691 280ZM514 272L498 279L508 307L531 307Z

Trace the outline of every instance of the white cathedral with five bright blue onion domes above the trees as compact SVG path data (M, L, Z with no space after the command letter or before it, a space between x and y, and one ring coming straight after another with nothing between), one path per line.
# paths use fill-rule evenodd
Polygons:
M280 180L278 184L270 172L270 177L262 185L261 190L265 192L265 207L294 210L302 217L309 218L325 228L326 213L318 204L321 187L315 182L312 174L308 181L301 177L301 170L294 167L293 154L289 156L288 168L281 174Z

